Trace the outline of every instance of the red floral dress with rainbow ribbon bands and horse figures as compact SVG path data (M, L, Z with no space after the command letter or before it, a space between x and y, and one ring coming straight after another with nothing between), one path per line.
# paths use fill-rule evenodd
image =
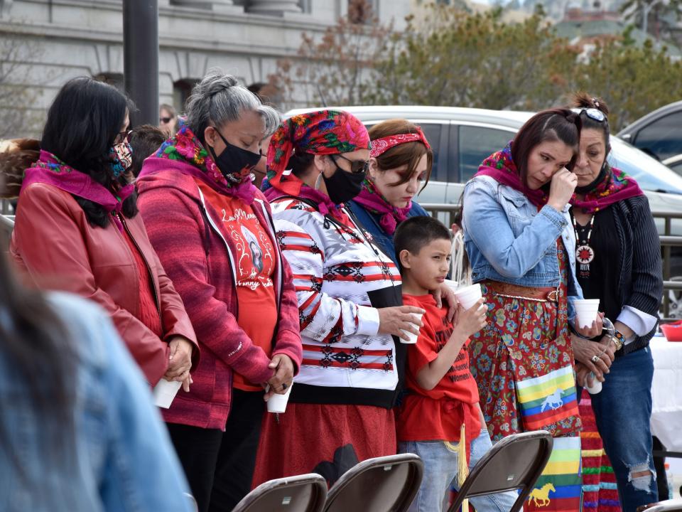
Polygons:
M487 325L472 336L471 371L493 442L547 430L554 447L524 510L580 510L580 416L568 330L568 255L557 240L558 302L497 295L485 282Z

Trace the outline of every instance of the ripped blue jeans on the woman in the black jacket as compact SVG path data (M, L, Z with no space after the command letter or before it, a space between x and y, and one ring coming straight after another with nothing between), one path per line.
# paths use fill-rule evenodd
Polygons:
M624 512L658 500L651 454L651 380L654 359L649 347L616 358L601 393L591 395L592 410L604 449L611 460ZM672 390L671 390L672 391ZM651 471L632 478L631 473Z

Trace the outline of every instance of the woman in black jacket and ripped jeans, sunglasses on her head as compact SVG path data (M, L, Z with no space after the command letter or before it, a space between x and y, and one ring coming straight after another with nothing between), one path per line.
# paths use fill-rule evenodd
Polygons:
M613 338L573 336L578 385L602 383L592 395L597 429L613 465L623 511L657 499L651 454L649 340L656 332L663 294L659 235L649 201L606 157L610 150L608 108L577 95L580 156L573 171L578 186L571 204L576 238L576 276L585 299L600 299L613 321Z

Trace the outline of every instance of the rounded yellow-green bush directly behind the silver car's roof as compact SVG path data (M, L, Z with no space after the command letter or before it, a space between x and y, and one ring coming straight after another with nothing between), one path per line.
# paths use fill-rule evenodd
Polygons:
M377 64L375 102L537 109L553 105L570 84L577 50L554 36L541 10L504 23L501 9L431 9L394 36Z

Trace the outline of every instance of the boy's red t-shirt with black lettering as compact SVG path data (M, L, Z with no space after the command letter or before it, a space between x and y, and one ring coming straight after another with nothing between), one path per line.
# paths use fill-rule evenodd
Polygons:
M467 439L478 437L481 422L475 406L478 388L469 369L469 340L462 346L453 366L432 390L417 384L416 375L438 357L448 343L453 324L448 309L438 308L431 295L403 295L403 304L426 309L417 343L407 350L406 388L402 405L396 412L399 441L460 440L460 428L466 424Z

